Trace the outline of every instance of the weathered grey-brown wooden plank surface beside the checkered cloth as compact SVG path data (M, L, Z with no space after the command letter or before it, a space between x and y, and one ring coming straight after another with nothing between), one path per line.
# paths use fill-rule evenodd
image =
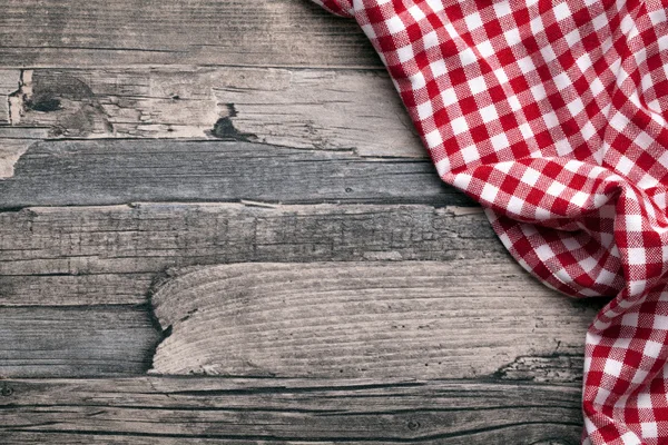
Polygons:
M307 0L0 0L0 443L578 444L602 301Z

